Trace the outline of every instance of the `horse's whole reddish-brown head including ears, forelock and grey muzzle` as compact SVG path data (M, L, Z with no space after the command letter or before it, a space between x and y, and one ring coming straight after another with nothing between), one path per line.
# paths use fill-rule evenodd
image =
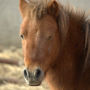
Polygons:
M20 11L25 79L30 85L39 85L59 54L59 5L54 0L47 4L20 0Z

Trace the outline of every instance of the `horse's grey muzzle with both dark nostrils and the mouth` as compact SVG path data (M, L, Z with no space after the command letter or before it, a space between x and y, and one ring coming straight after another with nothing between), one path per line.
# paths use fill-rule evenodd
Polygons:
M28 85L39 86L44 78L44 73L40 68L37 68L32 72L28 69L24 69L24 78Z

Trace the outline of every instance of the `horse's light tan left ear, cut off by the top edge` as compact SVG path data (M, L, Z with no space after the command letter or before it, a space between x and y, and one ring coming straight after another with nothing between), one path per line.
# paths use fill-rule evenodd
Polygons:
M28 7L29 7L29 0L19 0L19 8L20 8L20 12L21 12L21 16L24 18L25 15L28 12Z

